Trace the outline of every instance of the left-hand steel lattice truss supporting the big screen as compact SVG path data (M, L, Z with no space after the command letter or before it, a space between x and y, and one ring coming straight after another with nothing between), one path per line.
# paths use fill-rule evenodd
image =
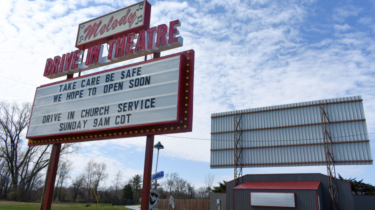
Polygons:
M242 113L234 115L234 186L242 183Z

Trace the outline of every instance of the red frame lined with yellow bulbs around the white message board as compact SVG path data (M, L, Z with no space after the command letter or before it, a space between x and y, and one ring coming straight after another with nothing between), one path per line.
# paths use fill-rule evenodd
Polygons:
M141 63L151 62L159 59L164 59L173 56L180 56L179 64L179 86L178 86L178 101L177 101L177 119L173 121L155 122L138 125L128 125L123 127L103 128L86 131L75 131L62 134L49 134L42 136L32 136L26 138L29 146L53 143L69 143L81 142L91 140L102 140L109 138L125 138L134 136L157 135L167 133L189 132L192 130L192 111L193 111L193 78L194 78L194 50L190 49L175 54L166 55L160 58L146 60L142 62L133 63L121 67L116 67L104 71L99 71L84 76L71 78L68 80L81 79L83 77L90 77L92 75L116 70L118 68L129 67ZM53 82L40 87L64 82L66 80ZM39 88L39 87L38 87ZM36 93L36 91L35 91ZM32 113L31 113L32 114Z

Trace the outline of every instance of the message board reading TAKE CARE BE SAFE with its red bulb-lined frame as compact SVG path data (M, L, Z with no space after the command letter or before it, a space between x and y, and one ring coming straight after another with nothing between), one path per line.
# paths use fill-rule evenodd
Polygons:
M194 51L37 87L28 145L191 131Z

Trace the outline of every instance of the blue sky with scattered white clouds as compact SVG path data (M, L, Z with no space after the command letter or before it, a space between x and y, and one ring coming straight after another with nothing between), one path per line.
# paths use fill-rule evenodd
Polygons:
M75 49L78 24L134 0L7 0L0 6L0 99L33 101L47 58ZM210 169L210 115L236 109L362 95L372 153L375 148L375 2L372 0L149 0L150 26L179 19L183 47L195 50L193 131L155 136L158 169L178 172L195 186ZM109 69L124 61L86 73ZM74 75L77 76L77 75ZM145 137L81 143L69 158L72 176L89 159L104 161L109 178L142 173ZM154 160L156 161L156 151ZM154 169L153 169L154 170ZM244 168L242 173L320 172L325 166ZM375 167L336 166L343 177L375 184ZM215 185L215 184L214 184Z

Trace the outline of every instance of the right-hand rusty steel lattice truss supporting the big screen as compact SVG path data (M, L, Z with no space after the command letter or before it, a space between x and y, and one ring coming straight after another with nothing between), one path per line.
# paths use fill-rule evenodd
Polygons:
M328 116L328 107L326 103L319 103L320 106L320 119L321 119L321 128L324 139L324 150L325 150L325 164L327 166L328 173L328 188L329 195L331 200L331 209L339 209L338 205L338 190L336 182L336 170L334 168L334 158L333 158L333 144L332 138L330 135L329 127L329 116Z

